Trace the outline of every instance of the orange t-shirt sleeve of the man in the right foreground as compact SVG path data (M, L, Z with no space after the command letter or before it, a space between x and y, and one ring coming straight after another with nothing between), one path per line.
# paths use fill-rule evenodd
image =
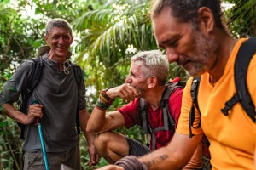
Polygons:
M192 99L190 94L192 80L193 80L193 77L190 77L189 80L187 81L186 87L183 90L182 109L181 109L181 114L178 119L178 124L176 129L177 133L188 134L188 135L189 135L189 111L192 106ZM193 134L203 133L201 127L194 128L194 127L198 127L198 124L200 123L200 119L201 119L200 113L195 108L195 122L193 124L193 127L191 127Z

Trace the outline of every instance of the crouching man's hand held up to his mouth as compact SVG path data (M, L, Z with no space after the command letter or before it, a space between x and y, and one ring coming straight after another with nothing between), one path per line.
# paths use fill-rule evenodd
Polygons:
M139 96L137 89L129 83L122 84L115 88L110 88L106 94L112 99L120 97L124 102L130 102Z

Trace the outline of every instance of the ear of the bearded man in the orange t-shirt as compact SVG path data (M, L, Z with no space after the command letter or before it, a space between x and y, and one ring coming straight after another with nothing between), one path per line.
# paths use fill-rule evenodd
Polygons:
M198 9L198 27L206 36L213 30L215 21L212 11L207 7Z

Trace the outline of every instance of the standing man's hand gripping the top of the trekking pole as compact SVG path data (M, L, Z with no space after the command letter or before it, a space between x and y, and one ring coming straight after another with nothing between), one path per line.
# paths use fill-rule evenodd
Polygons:
M28 114L26 115L26 118L23 124L30 124L32 122L35 122L36 117L42 118L43 117L42 108L43 108L43 105L39 105L39 104L29 105L29 111L28 111Z

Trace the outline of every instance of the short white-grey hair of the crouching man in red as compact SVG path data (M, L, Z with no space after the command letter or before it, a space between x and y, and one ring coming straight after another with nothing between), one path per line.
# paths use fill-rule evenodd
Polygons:
M131 58L131 62L143 62L144 77L155 76L160 85L166 83L169 72L169 63L166 55L162 54L160 50L151 50L139 52Z

